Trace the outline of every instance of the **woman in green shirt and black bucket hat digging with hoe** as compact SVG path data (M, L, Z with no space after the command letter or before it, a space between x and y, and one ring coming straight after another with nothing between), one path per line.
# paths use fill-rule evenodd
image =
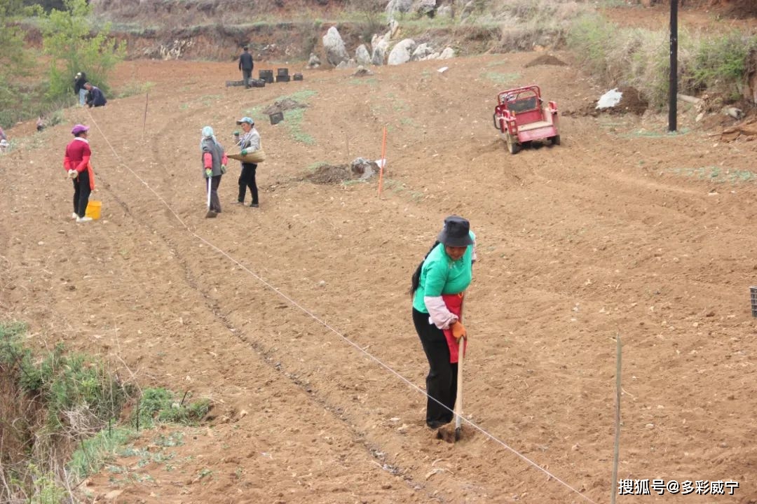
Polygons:
M469 221L450 215L413 274L413 324L430 368L426 376L425 418L430 428L439 428L453 419L459 339L467 342L468 336L461 322L463 294L471 283L475 259L475 234Z

